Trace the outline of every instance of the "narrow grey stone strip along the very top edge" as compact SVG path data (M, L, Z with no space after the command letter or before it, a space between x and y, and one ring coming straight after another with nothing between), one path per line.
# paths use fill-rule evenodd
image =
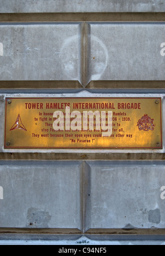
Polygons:
M164 11L163 0L1 0L1 13Z

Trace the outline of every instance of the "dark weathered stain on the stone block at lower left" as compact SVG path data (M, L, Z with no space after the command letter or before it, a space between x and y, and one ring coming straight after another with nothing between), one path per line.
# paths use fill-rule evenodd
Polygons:
M30 208L27 211L26 227L31 228L47 228L48 222L51 220L49 212L41 211L35 208Z

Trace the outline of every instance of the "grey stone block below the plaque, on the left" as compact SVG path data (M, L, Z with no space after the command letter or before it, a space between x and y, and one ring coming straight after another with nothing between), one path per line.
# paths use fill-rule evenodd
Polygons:
M1 162L0 227L82 228L80 162Z

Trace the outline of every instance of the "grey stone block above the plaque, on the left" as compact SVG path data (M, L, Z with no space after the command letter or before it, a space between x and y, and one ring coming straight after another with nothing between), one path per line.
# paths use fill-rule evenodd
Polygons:
M80 80L79 23L0 24L0 34L1 81Z

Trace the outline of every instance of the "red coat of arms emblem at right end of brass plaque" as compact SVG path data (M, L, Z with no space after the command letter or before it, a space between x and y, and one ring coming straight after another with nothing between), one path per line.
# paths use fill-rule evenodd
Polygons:
M147 114L145 114L144 116L142 116L141 119L139 119L138 121L138 127L139 127L139 130L142 131L153 131L154 130L154 127L155 127L155 124L153 124L153 119L150 118L150 116L148 116Z

